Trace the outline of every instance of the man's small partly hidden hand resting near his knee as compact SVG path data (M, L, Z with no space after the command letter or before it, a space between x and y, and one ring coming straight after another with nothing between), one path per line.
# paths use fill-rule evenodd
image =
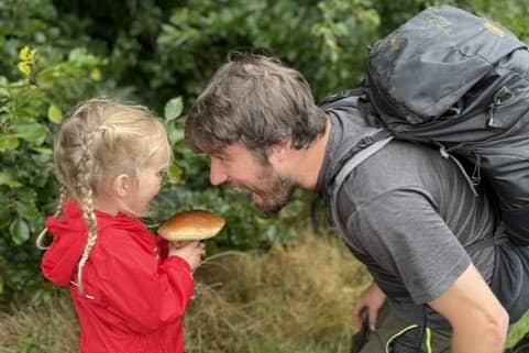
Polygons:
M386 302L386 295L375 284L372 285L362 293L359 300L354 306L354 321L360 329L362 324L365 324L365 320L368 320L370 330L376 330L376 321L382 307Z

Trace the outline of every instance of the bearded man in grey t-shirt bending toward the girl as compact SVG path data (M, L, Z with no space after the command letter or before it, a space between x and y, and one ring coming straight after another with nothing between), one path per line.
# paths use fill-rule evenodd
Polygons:
M296 188L329 201L348 152L375 131L357 106L353 97L317 107L297 70L240 57L190 109L186 137L210 155L211 184L249 190L272 214ZM498 220L452 161L392 141L338 192L343 240L374 278L354 309L373 331L360 352L503 352L509 315L517 320L529 307L527 249L505 242L467 253L466 245L494 235ZM491 289L498 284L504 305Z

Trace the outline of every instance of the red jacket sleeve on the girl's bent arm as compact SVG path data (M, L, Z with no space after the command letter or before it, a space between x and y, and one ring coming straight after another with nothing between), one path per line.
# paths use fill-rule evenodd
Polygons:
M117 232L106 240L98 244L92 264L98 274L93 285L108 309L142 333L181 319L195 290L189 264L177 256L158 261L130 233Z

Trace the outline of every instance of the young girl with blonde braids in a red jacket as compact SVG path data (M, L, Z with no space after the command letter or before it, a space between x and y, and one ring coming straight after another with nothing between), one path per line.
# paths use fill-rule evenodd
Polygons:
M63 123L54 161L60 199L42 269L70 288L81 352L184 352L203 245L176 249L139 220L172 161L164 125L145 108L92 99Z

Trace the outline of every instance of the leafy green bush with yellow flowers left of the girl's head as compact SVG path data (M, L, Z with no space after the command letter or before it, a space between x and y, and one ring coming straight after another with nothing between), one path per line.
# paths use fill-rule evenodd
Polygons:
M8 299L15 293L27 299L42 284L41 254L32 234L44 228L57 195L53 135L64 109L97 91L97 73L104 66L82 48L71 48L55 62L41 62L40 53L40 47L21 48L13 65L19 73L12 73L12 79L0 76L0 231L7 235L0 238L0 289Z

